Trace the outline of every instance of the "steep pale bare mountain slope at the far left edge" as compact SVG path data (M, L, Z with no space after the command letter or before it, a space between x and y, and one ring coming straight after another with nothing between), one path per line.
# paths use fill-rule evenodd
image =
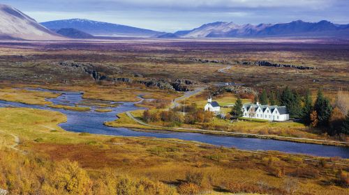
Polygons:
M0 39L61 40L53 33L20 10L0 4Z

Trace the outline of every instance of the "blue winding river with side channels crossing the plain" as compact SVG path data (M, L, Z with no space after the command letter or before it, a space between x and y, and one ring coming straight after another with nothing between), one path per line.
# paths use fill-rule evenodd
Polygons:
M43 89L31 89L40 91L49 91ZM61 91L51 91L54 93L62 93ZM63 93L58 98L50 98L47 101L53 104L75 105L86 102L82 98L81 93ZM123 127L107 127L103 125L105 121L116 119L116 115L125 111L133 111L140 109L135 107L134 102L101 102L118 104L117 107L109 107L111 112L101 113L94 111L98 107L92 106L91 111L79 112L68 111L64 109L53 109L47 106L22 104L19 102L6 102L0 100L0 107L27 107L34 109L45 109L60 111L66 114L66 123L59 124L66 131L70 132L88 132L91 134L105 134L124 137L156 137L156 138L171 138L182 139L186 141L199 141L202 143L210 143L216 146L235 147L242 150L277 150L284 153L299 153L306 155L315 155L322 157L342 157L349 158L349 148L341 146L325 146L311 143L296 143L290 141L278 141L273 139L255 139L244 137L227 137L216 136L199 133L186 132L140 132L130 130Z

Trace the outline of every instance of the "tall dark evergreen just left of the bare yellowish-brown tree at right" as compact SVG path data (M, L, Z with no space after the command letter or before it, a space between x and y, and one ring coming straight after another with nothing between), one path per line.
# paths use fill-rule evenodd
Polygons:
M325 98L320 89L314 104L314 109L318 113L319 125L328 125L329 117L332 113L332 106L329 99Z

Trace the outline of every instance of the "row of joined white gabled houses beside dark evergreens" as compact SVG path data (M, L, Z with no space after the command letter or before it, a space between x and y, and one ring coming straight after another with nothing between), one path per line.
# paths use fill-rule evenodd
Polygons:
M244 118L285 121L290 120L286 107L257 104L244 104L242 107Z

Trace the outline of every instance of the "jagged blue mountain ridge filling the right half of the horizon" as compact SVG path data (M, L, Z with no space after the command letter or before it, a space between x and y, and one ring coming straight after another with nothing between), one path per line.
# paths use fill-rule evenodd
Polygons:
M258 38L258 37L337 37L349 38L349 24L333 24L326 20L283 24L234 24L214 22L190 31L174 33L184 38Z

